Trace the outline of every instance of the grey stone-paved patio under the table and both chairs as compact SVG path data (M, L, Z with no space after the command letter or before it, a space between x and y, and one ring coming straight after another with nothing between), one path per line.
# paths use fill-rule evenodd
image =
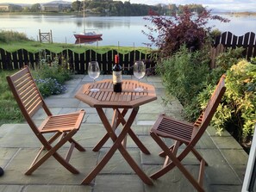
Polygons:
M99 78L105 79L111 78L111 76L105 75ZM134 77L124 76L123 78ZM153 186L147 186L128 166L119 152L115 153L114 158L110 159L91 185L80 185L84 177L95 167L98 159L102 158L104 153L108 151L108 147L111 146L109 140L99 152L91 151L104 135L105 129L95 108L91 108L74 98L78 88L91 81L88 76L76 75L66 83L66 94L50 96L46 99L53 114L71 112L77 109L86 111L84 123L75 136L75 139L86 148L86 152L74 150L71 159L71 164L80 171L80 174L72 175L55 159L50 158L31 176L25 176L24 172L34 159L40 143L27 123L4 124L0 133L0 165L5 173L3 177L0 177L0 191L196 191L178 169L174 169L164 177L153 181ZM146 174L150 175L154 170L159 169L164 160L158 156L159 146L149 136L150 127L161 113L182 119L180 114L182 106L178 101L173 101L172 105L168 106L163 103L162 97L165 97L165 91L160 77L144 77L143 81L147 84L153 84L157 91L158 100L140 107L133 129L142 143L147 146L151 155L141 153L130 139L128 139L127 147L137 164L140 164ZM109 113L109 119L111 118L110 115L112 113ZM36 114L34 118L40 122L44 116ZM224 132L220 137L215 135L213 127L208 127L207 133L204 133L197 149L209 164L205 169L205 191L241 191L248 155L229 133ZM199 166L193 156L185 158L184 164L197 174Z

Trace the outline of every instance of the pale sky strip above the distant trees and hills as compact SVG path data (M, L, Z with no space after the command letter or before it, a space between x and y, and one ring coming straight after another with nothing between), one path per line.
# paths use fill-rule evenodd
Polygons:
M0 3L48 3L52 0L0 0ZM67 2L74 2L75 0L65 0ZM81 1L81 0L80 0ZM128 1L128 0L123 0ZM203 4L204 7L209 9L224 9L232 11L255 11L256 1L255 0L129 0L130 3L143 3L154 5L157 3L175 3L175 4L190 4L197 3Z

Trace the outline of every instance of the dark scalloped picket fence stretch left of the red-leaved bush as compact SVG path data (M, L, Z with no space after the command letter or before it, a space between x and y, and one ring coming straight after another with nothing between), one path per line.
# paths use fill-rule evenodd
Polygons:
M88 63L91 60L97 60L103 74L111 74L112 66L114 65L114 56L118 52L111 50L107 53L97 53L93 50L87 50L84 53L75 53L72 50L66 49L61 53L53 53L49 50L44 50L40 53L30 53L25 49L19 49L16 52L9 53L0 48L0 70L21 69L22 66L28 65L31 68L41 64L45 59L47 63L58 59L59 64L65 65L71 71L77 74L84 74L87 71ZM134 50L130 53L119 53L120 64L124 74L133 73L133 65L135 60L144 60L150 72L150 69L155 67L153 61L154 53L141 53Z

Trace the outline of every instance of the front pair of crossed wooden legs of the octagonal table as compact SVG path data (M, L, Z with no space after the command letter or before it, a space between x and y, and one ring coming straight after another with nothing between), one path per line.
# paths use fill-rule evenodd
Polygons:
M91 183L93 178L95 178L97 176L97 174L103 169L105 164L107 164L109 162L109 159L114 155L114 153L118 149L121 152L123 158L126 159L128 164L135 171L135 173L140 177L140 179L144 183L147 183L149 185L153 185L152 180L149 177L147 177L147 175L143 172L143 170L140 169L140 166L138 164L136 164L134 159L128 154L127 150L121 145L122 140L127 135L128 130L130 129L130 127L131 127L131 125L132 125L132 123L135 119L135 116L138 113L138 108L133 109L131 115L128 118L127 123L123 127L122 132L120 133L120 135L118 137L116 136L116 133L113 132L113 129L112 129L111 125L109 124L109 121L108 121L106 115L104 114L103 109L102 108L97 108L97 113L100 116L101 120L103 121L104 127L106 128L107 132L109 133L109 137L115 143L113 144L113 146L110 147L109 152L107 152L105 154L103 159L97 164L97 166L94 168L94 170L92 170L91 173L87 177L84 178L84 180L82 181L82 184Z

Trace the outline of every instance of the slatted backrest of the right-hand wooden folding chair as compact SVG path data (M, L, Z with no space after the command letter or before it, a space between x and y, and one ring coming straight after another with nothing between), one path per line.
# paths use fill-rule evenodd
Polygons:
M222 75L219 83L216 85L215 91L209 99L209 102L204 108L202 114L199 116L197 121L194 123L196 127L193 133L193 139L191 141L192 146L197 143L197 140L201 138L206 128L209 126L209 123L215 114L216 109L218 108L219 103L222 101L222 96L226 90L225 87L225 76Z

